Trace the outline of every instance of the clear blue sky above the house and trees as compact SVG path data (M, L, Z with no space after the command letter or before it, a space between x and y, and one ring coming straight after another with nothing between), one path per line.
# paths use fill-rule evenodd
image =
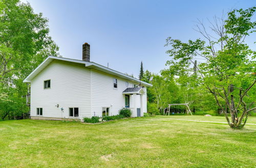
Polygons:
M49 19L50 36L65 58L81 60L82 44L91 45L91 61L138 77L144 69L158 73L170 59L165 39L201 37L197 18L221 16L231 9L256 6L256 1L60 1L28 0ZM252 45L250 37L248 43ZM254 40L255 41L255 40Z

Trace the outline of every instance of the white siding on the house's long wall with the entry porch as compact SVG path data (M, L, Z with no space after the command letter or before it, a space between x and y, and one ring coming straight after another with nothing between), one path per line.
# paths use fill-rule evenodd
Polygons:
M102 116L102 107L110 107L110 116L118 115L119 110L125 107L125 95L122 92L127 88L126 80L92 70L92 116ZM113 88L113 78L117 79L118 87ZM129 81L129 88L134 84ZM146 91L146 88L144 88ZM134 109L134 98L130 95L130 108L133 117L137 113ZM136 107L140 108L140 95L136 96ZM143 96L143 112L146 113L146 95ZM142 113L143 114L143 113Z

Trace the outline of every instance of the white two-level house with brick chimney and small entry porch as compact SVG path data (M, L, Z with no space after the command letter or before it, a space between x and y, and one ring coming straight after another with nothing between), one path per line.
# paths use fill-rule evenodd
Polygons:
M132 117L147 112L150 83L90 62L88 43L82 60L50 56L24 79L31 86L31 119L111 116L123 107L132 110Z

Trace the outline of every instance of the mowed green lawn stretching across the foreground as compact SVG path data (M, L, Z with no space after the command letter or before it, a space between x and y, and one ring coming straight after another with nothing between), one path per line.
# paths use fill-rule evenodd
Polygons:
M172 120L170 120L172 119ZM178 119L178 120L173 120ZM157 116L103 124L0 122L0 167L254 167L256 125ZM248 123L256 124L256 117Z

